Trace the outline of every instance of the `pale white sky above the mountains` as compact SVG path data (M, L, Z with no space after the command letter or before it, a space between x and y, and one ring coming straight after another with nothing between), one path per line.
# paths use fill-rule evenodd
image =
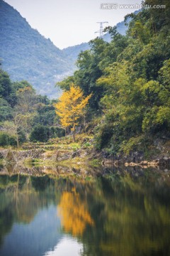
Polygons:
M50 38L58 48L67 48L96 38L101 21L115 26L126 14L138 9L141 0L4 0L13 6L32 28ZM109 4L118 4L117 9ZM135 6L120 6L134 4Z

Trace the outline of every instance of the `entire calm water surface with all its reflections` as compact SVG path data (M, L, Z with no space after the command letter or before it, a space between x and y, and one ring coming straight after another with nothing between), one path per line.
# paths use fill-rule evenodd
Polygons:
M170 172L0 176L1 256L170 255Z

